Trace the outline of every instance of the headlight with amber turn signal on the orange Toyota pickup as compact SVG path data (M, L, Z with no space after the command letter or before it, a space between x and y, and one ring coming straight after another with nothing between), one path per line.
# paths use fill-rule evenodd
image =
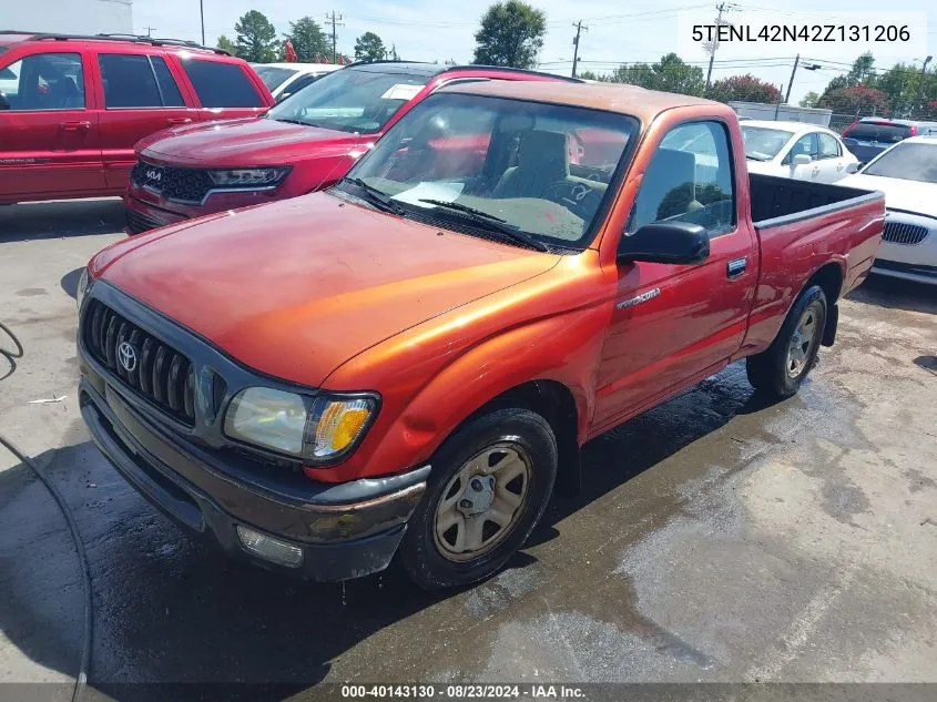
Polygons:
M357 445L376 409L374 396L306 397L249 387L232 400L224 433L232 439L310 464L329 462Z

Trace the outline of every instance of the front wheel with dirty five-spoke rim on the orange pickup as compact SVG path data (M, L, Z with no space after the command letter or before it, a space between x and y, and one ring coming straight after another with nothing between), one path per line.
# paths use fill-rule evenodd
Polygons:
M459 428L431 465L426 494L400 546L400 559L410 580L425 590L465 587L500 570L533 531L553 491L557 438L547 420L529 409L496 409ZM493 472L485 474L479 467ZM511 477L516 471L519 475ZM518 499L518 486L523 486L523 495L510 523L503 525L507 510ZM489 498L488 511L478 511ZM471 506L466 508L467 503ZM501 523L490 521L489 515ZM452 526L446 528L449 521ZM495 536L492 528L498 530ZM467 548L472 533L489 535L477 551ZM466 550L458 552L460 543Z

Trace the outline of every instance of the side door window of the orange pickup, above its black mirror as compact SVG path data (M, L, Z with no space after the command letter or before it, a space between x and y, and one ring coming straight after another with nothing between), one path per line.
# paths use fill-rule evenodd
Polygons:
M625 234L664 221L700 224L710 236L735 227L732 156L721 123L675 126L651 157Z

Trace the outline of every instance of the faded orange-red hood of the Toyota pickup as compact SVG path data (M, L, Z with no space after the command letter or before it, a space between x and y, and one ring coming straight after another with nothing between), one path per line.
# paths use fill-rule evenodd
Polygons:
M314 193L120 242L92 271L246 366L320 386L366 348L558 261Z

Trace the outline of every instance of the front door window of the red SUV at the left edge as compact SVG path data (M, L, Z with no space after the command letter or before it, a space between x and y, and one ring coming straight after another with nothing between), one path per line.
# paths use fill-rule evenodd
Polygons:
M84 109L84 71L79 53L37 53L3 69L0 91L10 110Z

